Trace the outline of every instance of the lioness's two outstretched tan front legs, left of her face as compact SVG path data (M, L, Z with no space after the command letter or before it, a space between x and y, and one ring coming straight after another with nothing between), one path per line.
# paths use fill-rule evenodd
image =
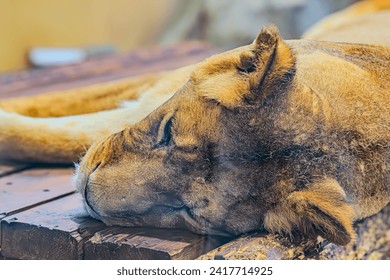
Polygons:
M0 108L4 111L0 110L0 158L77 162L93 142L141 120L169 99L188 79L192 67L77 90L1 100ZM129 108L124 104L121 108L120 102L129 100L136 104Z

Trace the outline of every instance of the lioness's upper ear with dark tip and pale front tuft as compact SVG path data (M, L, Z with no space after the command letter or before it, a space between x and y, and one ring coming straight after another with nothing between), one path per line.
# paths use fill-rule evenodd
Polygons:
M261 29L253 44L242 49L239 56L216 56L202 66L191 76L198 94L234 108L285 90L285 82L290 82L295 73L295 58L276 26L270 25Z

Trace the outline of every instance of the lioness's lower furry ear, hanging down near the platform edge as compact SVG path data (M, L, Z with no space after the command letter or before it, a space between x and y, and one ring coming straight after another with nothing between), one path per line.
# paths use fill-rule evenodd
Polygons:
M338 245L346 245L355 237L352 207L334 180L314 183L305 190L291 193L275 210L267 213L264 222L270 230L290 232L295 229Z

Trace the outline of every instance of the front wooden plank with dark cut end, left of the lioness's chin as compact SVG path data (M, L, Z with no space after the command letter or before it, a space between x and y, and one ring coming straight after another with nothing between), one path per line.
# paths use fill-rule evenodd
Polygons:
M16 259L82 259L83 243L104 225L72 194L1 221L1 254Z

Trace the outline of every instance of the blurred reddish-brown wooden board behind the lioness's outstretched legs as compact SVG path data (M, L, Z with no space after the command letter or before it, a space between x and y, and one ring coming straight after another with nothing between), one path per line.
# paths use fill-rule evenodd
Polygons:
M58 91L175 69L215 54L205 43L185 42L174 46L137 50L93 59L81 64L20 71L0 75L0 97L17 97Z

